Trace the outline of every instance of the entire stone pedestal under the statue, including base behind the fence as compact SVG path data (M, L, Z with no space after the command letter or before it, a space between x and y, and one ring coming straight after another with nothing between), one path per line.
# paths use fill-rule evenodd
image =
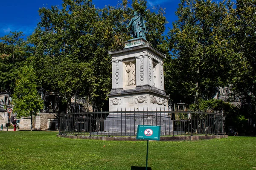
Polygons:
M169 130L172 121L168 114L145 112L143 116L143 113L136 113L168 111L168 96L164 91L163 76L163 59L166 56L143 38L128 40L124 49L110 51L109 54L112 57L109 111L134 112L110 113L105 121L105 131L121 132L122 127L122 131L126 128L134 132L139 123L143 125L142 122L144 125L161 125L162 130ZM148 114L153 115L147 116ZM130 128L130 124L133 128Z

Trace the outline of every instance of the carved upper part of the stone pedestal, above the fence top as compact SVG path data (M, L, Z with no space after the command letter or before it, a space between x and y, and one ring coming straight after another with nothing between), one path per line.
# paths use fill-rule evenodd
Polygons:
M125 48L111 51L112 90L109 111L166 111L168 96L164 91L163 59L143 38L128 40Z

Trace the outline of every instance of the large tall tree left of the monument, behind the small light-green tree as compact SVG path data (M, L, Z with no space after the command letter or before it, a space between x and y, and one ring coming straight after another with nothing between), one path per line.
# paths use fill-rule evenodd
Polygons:
M66 97L70 107L71 97L95 92L90 86L96 76L94 67L108 62L102 58L100 48L108 27L104 27L90 0L64 0L61 9L40 8L39 15L41 21L30 38L35 44L34 65L38 65L43 88ZM102 39L97 37L99 34ZM95 57L98 63L92 62ZM99 86L98 82L93 83Z

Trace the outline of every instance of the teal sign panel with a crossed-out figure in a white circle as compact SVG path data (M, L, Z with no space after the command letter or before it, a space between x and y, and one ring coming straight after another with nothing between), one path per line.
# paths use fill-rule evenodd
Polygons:
M136 139L160 140L161 126L138 125Z

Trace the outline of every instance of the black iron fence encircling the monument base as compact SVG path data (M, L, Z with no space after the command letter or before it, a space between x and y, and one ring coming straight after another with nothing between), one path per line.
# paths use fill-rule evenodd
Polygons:
M138 125L161 126L161 135L224 134L221 114L185 111L62 113L59 133L135 136Z

